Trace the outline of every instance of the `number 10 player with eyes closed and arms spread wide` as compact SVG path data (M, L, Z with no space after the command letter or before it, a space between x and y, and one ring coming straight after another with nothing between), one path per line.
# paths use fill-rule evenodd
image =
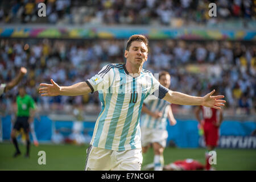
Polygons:
M99 93L102 105L87 149L85 170L141 170L141 129L139 118L145 98L154 94L173 104L204 105L221 109L224 96L204 97L172 92L142 69L147 61L148 41L143 35L129 38L125 50L126 64L108 64L85 82L71 86L40 84L41 96L79 96Z

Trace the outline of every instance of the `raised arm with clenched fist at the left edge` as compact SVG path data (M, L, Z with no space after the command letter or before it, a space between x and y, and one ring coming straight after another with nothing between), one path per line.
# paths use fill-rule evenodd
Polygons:
M20 80L22 80L23 76L26 75L27 73L27 69L22 67L20 68L20 71L19 71L19 75L16 76L14 78L14 80L10 81L9 83L7 84L1 84L0 85L0 96L3 94L3 93L6 93L8 92L9 90L11 90L12 88L14 88L14 86L18 85Z

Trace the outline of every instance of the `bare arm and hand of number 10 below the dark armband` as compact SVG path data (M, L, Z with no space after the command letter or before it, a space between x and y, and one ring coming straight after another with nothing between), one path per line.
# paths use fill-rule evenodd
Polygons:
M189 96L184 93L173 92L172 90L169 90L169 92L166 93L166 96L164 96L163 99L172 104L202 105L202 106L207 106L207 107L213 107L214 109L221 109L220 106L224 106L224 103L226 101L219 100L219 99L224 98L224 96L212 96L212 94L214 92L215 92L215 90L208 93L204 97L194 97L194 96Z

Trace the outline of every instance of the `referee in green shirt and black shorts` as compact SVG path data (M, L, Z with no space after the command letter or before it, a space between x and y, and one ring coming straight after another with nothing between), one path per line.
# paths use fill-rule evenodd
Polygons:
M16 140L17 132L23 128L24 133L26 134L26 145L27 152L24 155L26 158L29 157L30 152L30 137L29 137L29 129L30 123L34 121L35 116L35 102L34 100L26 94L26 90L23 86L19 88L19 95L16 97L17 104L17 118L14 123L13 130L11 130L11 139L13 140L13 144L15 146L14 158L21 154L18 146L18 142Z

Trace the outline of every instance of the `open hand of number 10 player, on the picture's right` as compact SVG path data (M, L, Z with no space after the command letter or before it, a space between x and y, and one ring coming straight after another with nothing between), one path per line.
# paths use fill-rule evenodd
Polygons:
M224 98L224 96L212 96L214 92L215 90L212 90L212 92L208 93L203 97L202 105L206 107L212 107L214 109L221 109L220 106L225 106L224 103L226 103L226 101L219 99Z

